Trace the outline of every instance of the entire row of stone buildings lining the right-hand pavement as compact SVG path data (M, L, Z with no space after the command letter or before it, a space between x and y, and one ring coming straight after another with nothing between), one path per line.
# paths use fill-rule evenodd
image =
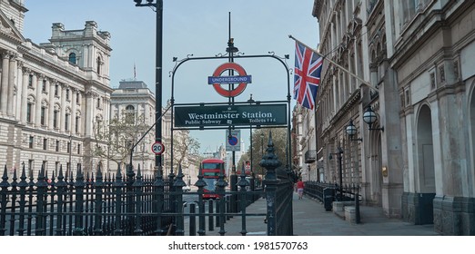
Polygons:
M362 185L365 204L442 234L475 235L473 1L316 0L313 15L319 51L369 81L324 65L325 178L338 179L325 155L341 147L343 180ZM345 133L350 120L357 137Z

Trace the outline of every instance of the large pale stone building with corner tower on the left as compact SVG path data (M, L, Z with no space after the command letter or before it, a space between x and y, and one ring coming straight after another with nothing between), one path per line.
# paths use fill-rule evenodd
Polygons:
M0 1L0 164L35 177L81 166L92 171L91 133L108 119L110 34L53 24L49 43L23 33L24 1Z

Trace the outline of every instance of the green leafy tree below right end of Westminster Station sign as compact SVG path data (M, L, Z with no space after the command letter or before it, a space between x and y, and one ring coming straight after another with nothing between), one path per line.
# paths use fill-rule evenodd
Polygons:
M252 132L252 146L249 146L248 151L238 161L237 167L242 167L244 161L251 160L251 147L252 147L252 170L257 174L264 174L265 170L259 166L259 162L262 160L262 156L267 153L268 149L268 135L272 132L272 142L274 143L275 153L278 156L278 160L283 165L287 163L288 156L288 135L286 128L269 128L269 129L256 129Z

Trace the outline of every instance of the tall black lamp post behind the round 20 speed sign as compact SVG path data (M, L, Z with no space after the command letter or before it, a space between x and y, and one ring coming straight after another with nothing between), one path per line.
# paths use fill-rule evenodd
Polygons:
M157 13L157 42L156 42L156 73L155 73L155 118L156 120L161 118L162 115L162 44L163 44L163 0L147 0L147 3L142 4L142 0L134 0L136 6L148 6L155 7ZM157 121L155 129L155 141L161 142L162 140L162 122ZM162 174L162 155L156 154L155 156L155 168L158 174Z

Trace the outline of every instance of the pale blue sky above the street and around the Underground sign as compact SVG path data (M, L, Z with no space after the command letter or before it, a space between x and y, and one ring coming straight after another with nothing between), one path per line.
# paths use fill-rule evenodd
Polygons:
M144 3L147 1L143 1ZM287 67L294 67L295 42L292 34L313 48L318 46L318 20L312 16L313 0L164 0L162 102L173 97L175 103L226 103L207 77L224 64L223 60L193 60L175 67L187 57L226 54L230 34L240 54L261 55L269 52L284 57L287 66L269 57L238 59L252 83L235 98L246 102L250 94L256 101L285 101L288 93ZM35 44L51 38L53 23L66 30L82 30L86 21L96 21L99 31L111 34L110 84L133 79L147 83L155 93L156 13L150 7L136 7L133 0L25 0L24 36ZM177 63L173 58L177 57ZM134 68L135 66L135 68ZM176 69L174 69L176 68ZM134 72L135 69L135 72ZM290 91L293 74L289 76ZM295 105L292 99L291 107ZM200 151L217 151L226 144L223 130L193 131ZM241 130L248 148L249 130Z

